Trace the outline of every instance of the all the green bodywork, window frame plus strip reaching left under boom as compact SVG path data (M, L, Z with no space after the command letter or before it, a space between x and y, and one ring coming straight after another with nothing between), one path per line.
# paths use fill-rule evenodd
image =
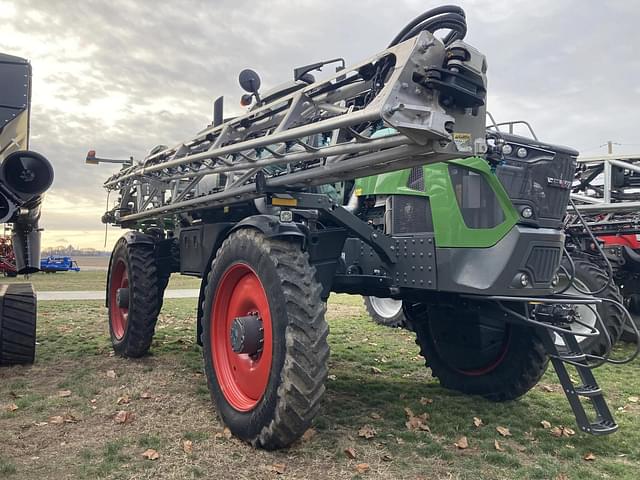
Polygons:
M498 243L518 222L518 212L509 195L482 158L466 158L451 162L482 175L498 198L504 221L493 228L469 228L458 207L447 163L423 166L426 192L408 188L411 170L400 170L356 180L357 195L415 195L428 196L431 203L433 227L438 247L486 248Z

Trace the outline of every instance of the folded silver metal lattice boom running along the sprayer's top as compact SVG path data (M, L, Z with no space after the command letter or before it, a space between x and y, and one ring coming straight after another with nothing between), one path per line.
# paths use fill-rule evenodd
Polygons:
M332 77L149 155L109 178L104 221L131 224L483 154L486 61L423 31ZM373 136L381 128L396 133Z

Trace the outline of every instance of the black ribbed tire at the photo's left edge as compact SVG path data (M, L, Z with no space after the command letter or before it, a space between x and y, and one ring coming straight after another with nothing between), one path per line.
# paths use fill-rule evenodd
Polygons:
M36 355L36 295L30 283L0 285L0 365L33 363Z

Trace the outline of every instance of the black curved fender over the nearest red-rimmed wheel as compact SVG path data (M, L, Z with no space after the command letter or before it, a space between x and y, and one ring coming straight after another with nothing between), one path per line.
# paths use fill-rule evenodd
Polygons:
M242 228L253 228L261 232L267 238L287 238L299 240L302 247L305 248L307 241L306 227L300 223L295 222L281 222L280 217L277 215L252 215L244 218L240 222L236 223L233 227L227 230L224 236L218 238L216 245L212 248L209 261L205 265L202 273L202 281L200 282L200 294L198 295L198 316L196 322L196 342L202 346L202 317L204 312L202 311L202 305L204 303L204 290L206 288L206 280L211 270L211 262L215 257L218 248L222 245L225 238L231 235L233 232Z

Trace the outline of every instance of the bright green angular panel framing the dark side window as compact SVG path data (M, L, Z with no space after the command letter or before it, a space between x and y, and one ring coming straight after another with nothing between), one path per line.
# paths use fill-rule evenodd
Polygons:
M486 248L498 243L518 222L519 215L509 195L481 158L452 160L450 163L473 170L482 175L498 198L504 213L504 221L493 228L469 228L464 223L458 207L453 184L446 163L424 166L427 195L431 203L433 228L438 247Z

